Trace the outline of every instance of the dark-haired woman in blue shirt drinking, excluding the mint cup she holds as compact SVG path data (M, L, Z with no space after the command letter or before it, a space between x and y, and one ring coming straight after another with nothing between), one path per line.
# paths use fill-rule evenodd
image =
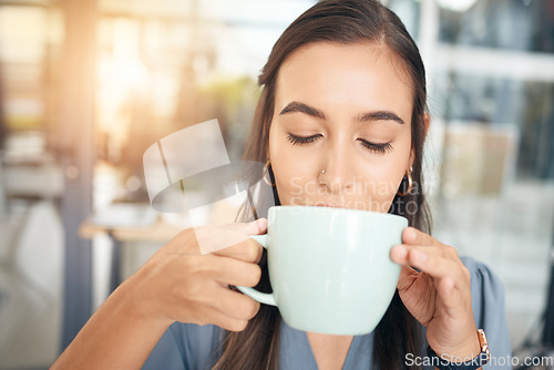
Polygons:
M416 369L428 346L451 362L478 357L478 327L492 356L506 356L501 284L428 234L424 68L396 14L373 0L317 3L283 33L259 83L245 158L266 163L276 204L409 219L391 250L398 291L375 332L288 327L275 307L229 289L269 288L258 244L203 256L184 230L109 297L54 368ZM266 220L237 228L259 234Z

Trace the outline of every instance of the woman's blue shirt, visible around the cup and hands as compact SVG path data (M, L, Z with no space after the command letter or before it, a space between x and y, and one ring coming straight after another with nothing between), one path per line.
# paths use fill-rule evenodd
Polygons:
M504 310L504 288L499 278L483 264L472 258L462 258L471 274L471 298L475 326L484 329L491 350L491 361L484 369L511 369L510 335ZM284 370L317 370L316 360L305 331L280 326L279 368ZM427 339L423 328L421 361ZM176 322L172 325L150 354L143 369L205 370L211 369L222 354L224 330L213 326ZM355 336L345 361L343 370L371 369L373 333ZM432 367L425 367L432 369Z

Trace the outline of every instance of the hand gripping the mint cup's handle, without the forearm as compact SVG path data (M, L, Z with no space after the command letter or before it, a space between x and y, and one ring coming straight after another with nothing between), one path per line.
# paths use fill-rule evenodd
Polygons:
M254 287L261 270L261 246L248 235L263 234L267 220L233 225L243 241L211 254L201 254L193 229L179 233L160 248L133 276L120 287L125 289L131 305L150 319L168 326L174 321L213 323L229 331L242 331L259 309L259 302L229 285ZM217 228L204 229L217 240ZM228 229L227 229L228 232ZM222 236L223 237L223 236Z

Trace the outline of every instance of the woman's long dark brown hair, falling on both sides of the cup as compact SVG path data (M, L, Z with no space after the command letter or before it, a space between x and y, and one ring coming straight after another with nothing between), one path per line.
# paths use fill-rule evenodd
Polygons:
M396 196L389 213L408 218L409 225L430 233L431 218L422 193L421 161L425 137L425 70L418 47L402 21L377 0L324 0L294 21L275 43L259 75L261 95L256 109L244 158L265 163L269 125L279 68L299 47L318 41L343 44L371 42L388 48L400 61L413 91L411 116L414 161L414 187L406 196ZM273 172L269 167L271 181ZM404 189L406 176L400 185ZM280 204L274 187L275 204ZM261 279L256 287L270 291L267 263L259 263ZM278 369L280 315L276 307L261 305L244 331L227 332L223 354L214 369ZM404 354L420 354L420 325L403 306L398 291L373 336L373 366L379 369L403 369ZM414 368L414 367L413 367Z

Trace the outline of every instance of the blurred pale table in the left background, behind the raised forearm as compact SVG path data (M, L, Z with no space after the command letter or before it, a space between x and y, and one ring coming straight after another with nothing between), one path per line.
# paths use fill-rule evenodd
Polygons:
M112 241L110 266L110 292L121 282L121 247L125 241L166 243L186 228L170 223L150 205L112 205L101 213L88 217L79 227L79 235L85 239L107 235Z

